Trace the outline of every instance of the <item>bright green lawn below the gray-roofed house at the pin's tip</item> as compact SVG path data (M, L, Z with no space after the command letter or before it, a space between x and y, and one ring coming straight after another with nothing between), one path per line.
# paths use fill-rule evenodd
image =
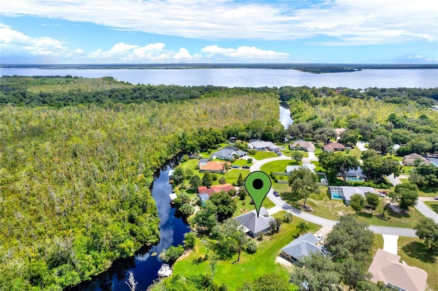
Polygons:
M284 212L279 212L274 217L283 217ZM279 233L272 236L265 236L263 241L255 240L259 249L256 253L248 254L242 252L240 262L235 262L237 254L233 255L230 260L219 261L214 281L216 283L227 283L229 290L240 288L244 281L254 281L264 274L277 273L283 279L289 279L289 270L284 266L276 264L275 258L279 255L281 248L290 243L297 234L296 225L300 219L294 217L291 223L283 223ZM311 227L310 232L315 232L320 228L320 225L308 223ZM205 258L207 248L205 243L201 243L201 239L196 240L196 249L187 257L178 260L173 266L174 275L191 276L196 274L210 274L209 261L203 260L198 262L198 258ZM233 264L235 262L235 264Z

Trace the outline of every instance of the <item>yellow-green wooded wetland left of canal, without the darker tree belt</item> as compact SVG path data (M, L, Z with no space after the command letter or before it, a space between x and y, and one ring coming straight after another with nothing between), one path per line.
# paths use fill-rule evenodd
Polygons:
M53 83L64 79L18 83L55 94L64 89ZM69 88L83 96L106 82L75 81ZM180 152L224 141L224 126L281 127L277 119L277 96L245 90L114 108L1 107L0 289L59 290L157 243L154 171Z

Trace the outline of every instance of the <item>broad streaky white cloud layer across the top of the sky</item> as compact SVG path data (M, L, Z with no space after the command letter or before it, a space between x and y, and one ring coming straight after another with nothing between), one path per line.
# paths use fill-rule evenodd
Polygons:
M296 9L296 5L301 5ZM305 7L303 7L305 5ZM36 15L204 40L296 40L331 45L437 41L438 1L14 0L8 16ZM365 37L364 37L365 36Z

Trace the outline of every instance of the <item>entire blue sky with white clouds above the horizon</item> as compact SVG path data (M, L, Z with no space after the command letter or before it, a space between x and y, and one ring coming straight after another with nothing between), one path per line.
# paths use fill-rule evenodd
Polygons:
M438 64L438 1L5 2L1 64Z

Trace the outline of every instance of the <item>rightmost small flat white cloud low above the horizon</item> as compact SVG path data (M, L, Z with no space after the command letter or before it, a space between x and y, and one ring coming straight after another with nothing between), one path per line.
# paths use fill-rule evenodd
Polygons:
M254 46L239 46L238 48L220 48L217 45L205 46L201 49L203 53L208 53L208 57L224 55L235 59L286 59L288 53L278 53L276 51L265 51Z

